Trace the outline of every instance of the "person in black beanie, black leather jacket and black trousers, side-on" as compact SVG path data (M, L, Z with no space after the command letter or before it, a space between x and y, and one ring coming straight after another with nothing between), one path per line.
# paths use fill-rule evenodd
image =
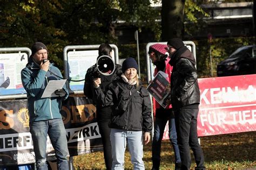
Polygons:
M197 117L200 104L200 91L196 59L180 38L167 42L170 54L171 104L175 115L175 124L181 158L181 169L190 169L190 147L194 153L197 167L205 169L204 154L198 142Z

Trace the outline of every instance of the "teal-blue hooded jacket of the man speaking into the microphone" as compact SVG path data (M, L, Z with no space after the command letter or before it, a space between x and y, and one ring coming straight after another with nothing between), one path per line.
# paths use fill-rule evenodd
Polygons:
M49 65L49 70L57 74L57 76L62 77L59 69L53 66L53 63ZM50 80L60 79L51 72L40 69L39 65L33 61L32 57L30 57L29 63L26 64L26 67L21 71L22 84L28 97L30 122L62 118L60 114L62 99L65 100L69 96L69 91L66 89L65 85L63 89L66 94L63 98L41 98L48 82Z

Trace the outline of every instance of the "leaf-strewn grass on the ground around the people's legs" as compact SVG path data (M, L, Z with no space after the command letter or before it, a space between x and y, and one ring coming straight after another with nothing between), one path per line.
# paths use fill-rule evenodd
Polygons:
M256 132L233 133L201 137L207 169L256 169ZM192 166L196 164L191 152ZM73 157L75 169L104 169L103 152ZM151 144L144 146L144 164L151 169ZM132 169L130 154L125 153L125 169ZM160 169L174 169L174 153L169 140L161 146Z

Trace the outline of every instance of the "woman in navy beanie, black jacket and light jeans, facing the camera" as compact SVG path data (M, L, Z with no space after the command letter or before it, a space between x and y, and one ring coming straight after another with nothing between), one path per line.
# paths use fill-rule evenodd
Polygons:
M127 58L122 65L122 79L113 81L106 95L99 88L100 78L94 81L97 101L102 106L112 106L113 115L109 124L112 145L112 169L124 169L126 142L131 154L133 169L145 169L144 144L150 141L152 131L151 101L149 92L140 83L138 65ZM144 139L143 139L144 132Z

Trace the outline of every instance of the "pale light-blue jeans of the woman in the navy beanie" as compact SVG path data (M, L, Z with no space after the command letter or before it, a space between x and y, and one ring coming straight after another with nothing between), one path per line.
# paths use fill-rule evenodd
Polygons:
M133 169L145 169L143 158L142 131L125 131L111 128L112 169L124 169L124 154L126 141L131 154Z

